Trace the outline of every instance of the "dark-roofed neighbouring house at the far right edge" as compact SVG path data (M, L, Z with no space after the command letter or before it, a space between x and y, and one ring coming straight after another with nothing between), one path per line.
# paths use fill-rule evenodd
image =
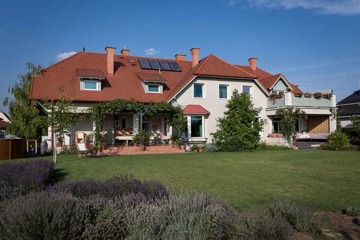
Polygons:
M360 78L359 78L360 84ZM354 91L351 95L344 98L336 104L339 112L339 119L341 126L349 128L352 127L350 116L360 116L360 89Z

